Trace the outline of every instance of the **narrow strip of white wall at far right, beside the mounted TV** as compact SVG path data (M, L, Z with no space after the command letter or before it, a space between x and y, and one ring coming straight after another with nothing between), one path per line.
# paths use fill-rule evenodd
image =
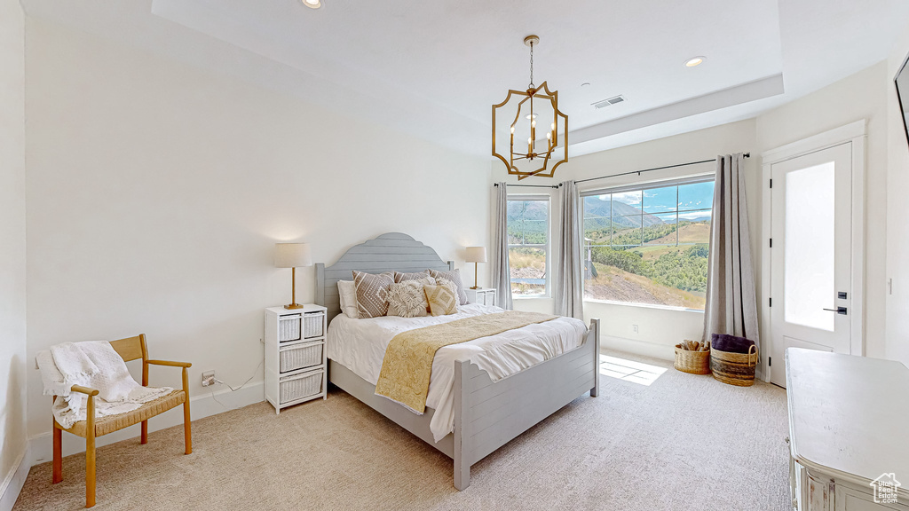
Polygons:
M893 78L909 54L909 25L887 59L887 277L894 279L893 294L887 296L887 358L909 366L909 144L900 115ZM904 95L909 91L904 91ZM909 97L903 98L909 107Z

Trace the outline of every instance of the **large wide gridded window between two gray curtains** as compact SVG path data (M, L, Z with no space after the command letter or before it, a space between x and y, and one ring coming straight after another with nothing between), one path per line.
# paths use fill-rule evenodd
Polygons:
M704 310L713 177L583 195L585 299Z

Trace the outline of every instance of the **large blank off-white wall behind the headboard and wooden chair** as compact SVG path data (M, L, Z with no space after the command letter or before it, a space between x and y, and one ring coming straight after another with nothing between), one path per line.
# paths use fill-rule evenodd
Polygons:
M29 19L26 41L29 356L145 333L193 363L194 396L207 370L255 384L263 308L291 298L276 241L330 264L399 231L465 266L489 237L486 158L62 26ZM314 277L297 271L298 302ZM48 398L29 383L35 436Z

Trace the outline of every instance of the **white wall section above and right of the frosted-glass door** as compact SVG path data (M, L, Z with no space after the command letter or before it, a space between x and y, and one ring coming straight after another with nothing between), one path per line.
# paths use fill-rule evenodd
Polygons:
M865 145L864 329L867 356L884 357L887 214L886 65L872 65L810 95L759 115L757 151L867 120ZM763 192L763 189L761 190ZM749 197L750 198L750 197ZM757 200L761 200L758 197ZM760 231L758 231L759 233ZM762 302L763 303L763 302Z

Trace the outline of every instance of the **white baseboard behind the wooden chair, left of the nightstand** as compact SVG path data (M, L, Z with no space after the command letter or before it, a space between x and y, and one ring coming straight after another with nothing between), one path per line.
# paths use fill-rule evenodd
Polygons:
M261 403L265 400L264 385L264 382L255 382L238 389L236 392L233 392L228 388L202 396L191 397L189 400L189 409L193 416L193 421L195 422L196 420L207 416L216 416L230 410L235 410L236 408ZM47 412L50 413L50 409L48 409ZM48 420L50 420L49 417ZM160 416L154 416L149 419L148 431L154 432L182 424L183 406L177 406L176 408L167 410ZM137 438L140 433L139 425L129 426L120 431L111 433L110 435L99 436L97 440L95 440L95 446L107 446L122 440ZM85 439L74 435L65 434L63 436L63 456L75 455L82 452L85 452ZM54 456L54 444L51 432L48 431L40 435L29 437L28 454L28 463L24 464L28 467L50 461ZM27 470L28 469L26 468L26 473ZM18 492L16 493L18 494ZM5 511L5 508L0 507L0 511Z

